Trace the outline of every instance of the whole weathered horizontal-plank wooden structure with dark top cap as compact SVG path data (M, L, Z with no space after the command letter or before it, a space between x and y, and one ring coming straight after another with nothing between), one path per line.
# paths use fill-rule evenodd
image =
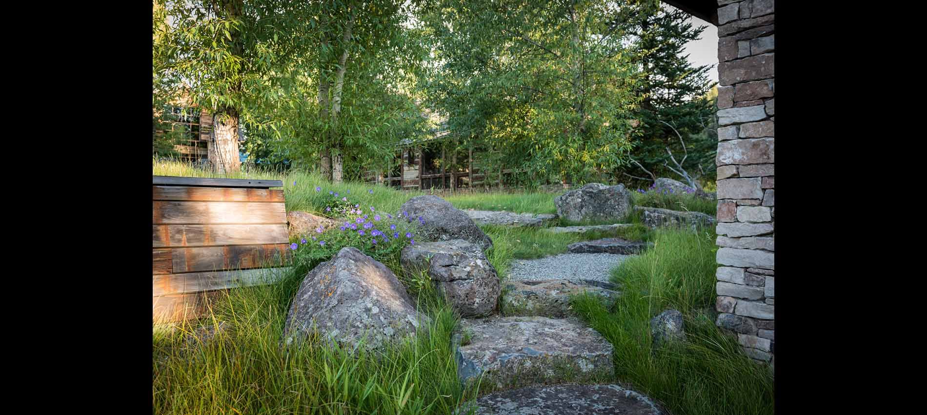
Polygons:
M290 258L280 180L152 176L152 318L197 318L222 290L282 274Z

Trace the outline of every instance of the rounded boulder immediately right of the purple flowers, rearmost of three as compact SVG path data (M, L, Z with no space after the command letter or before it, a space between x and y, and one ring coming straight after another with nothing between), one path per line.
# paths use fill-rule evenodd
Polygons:
M426 240L468 240L483 250L492 247L492 240L476 226L470 216L438 196L416 196L400 206L400 212L411 220L425 222L418 233Z

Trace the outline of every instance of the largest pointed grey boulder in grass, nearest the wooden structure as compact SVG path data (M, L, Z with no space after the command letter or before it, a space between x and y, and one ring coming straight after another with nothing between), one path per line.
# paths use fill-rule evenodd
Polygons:
M302 280L286 315L284 340L291 344L315 330L352 349L366 336L365 347L375 349L413 335L428 320L387 266L347 247Z

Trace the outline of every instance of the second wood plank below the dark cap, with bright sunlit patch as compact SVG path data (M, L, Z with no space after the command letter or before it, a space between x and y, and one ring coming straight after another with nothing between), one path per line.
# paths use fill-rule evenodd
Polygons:
M284 202L152 201L151 223L286 224Z

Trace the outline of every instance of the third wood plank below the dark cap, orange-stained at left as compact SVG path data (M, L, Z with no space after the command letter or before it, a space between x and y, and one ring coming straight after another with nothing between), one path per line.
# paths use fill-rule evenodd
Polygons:
M152 225L151 247L286 243L286 224L277 225Z

